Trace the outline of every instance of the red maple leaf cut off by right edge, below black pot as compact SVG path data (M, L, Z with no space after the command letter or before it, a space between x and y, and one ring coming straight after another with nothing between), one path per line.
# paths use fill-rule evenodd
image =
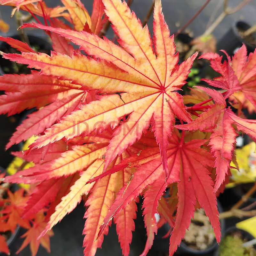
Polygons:
M223 52L227 55L225 51ZM237 92L242 92L245 99L251 102L254 108L256 107L256 51L250 53L247 57L246 46L243 44L236 51L232 60L227 55L228 60L223 63L221 63L222 57L217 53L206 53L200 58L210 60L211 67L221 75L215 77L212 81L202 79L203 81L214 87L227 90L225 99L233 93L235 93L234 97L236 97Z

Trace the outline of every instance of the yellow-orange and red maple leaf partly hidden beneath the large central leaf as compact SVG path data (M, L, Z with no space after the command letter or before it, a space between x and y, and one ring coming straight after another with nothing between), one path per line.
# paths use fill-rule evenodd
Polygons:
M98 180L95 184L94 183L86 184L90 179L102 173L103 166L104 166L103 156L105 154L106 146L107 146L106 143L105 144L103 143L89 144L89 143L92 142L93 140L97 140L97 142L104 142L104 141L109 141L110 139L111 139L111 133L108 131L103 132L98 136L97 135L87 136L87 137L81 138L80 140L78 140L78 138L75 138L74 140L76 141L76 144L79 141L80 141L79 143L81 144L84 144L84 142L88 144L81 145L83 149L80 148L79 151L77 151L75 148L74 150L67 151L60 158L48 164L47 168L41 167L40 173L31 172L31 174L29 174L29 170L25 174L23 174L24 171L21 172L22 176L24 176L23 179L26 179L26 175L28 175L29 177L32 177L32 179L36 177L36 179L39 179L39 180L45 180L47 178L49 179L49 176L51 176L51 179L45 180L37 186L37 188L31 194L28 200L28 206L30 207L32 206L32 209L34 212L35 209L39 209L38 208L39 206L43 207L45 205L45 202L49 203L51 200L50 198L56 195L56 192L59 186L58 184L61 182L60 181L61 178L59 177L62 175L62 177L64 178L64 175L65 176L70 175L71 172L68 173L66 171L64 173L64 172L61 172L61 169L64 169L64 168L68 169L69 168L68 165L72 164L70 165L70 167L72 168L72 173L80 171L79 179L77 179L73 183L73 185L70 187L70 191L65 196L62 197L61 202L56 206L55 212L52 213L52 216L50 217L50 220L44 232L40 236L43 236L67 213L71 212L76 207L76 205L81 201L82 199L81 195L88 195L90 192L90 196L86 201L86 205L87 206L90 205L90 206L86 211L87 220L85 222L85 228L84 228L84 234L86 235L84 240L84 246L86 247L85 254L87 255L88 253L88 255L94 255L97 247L101 246L103 242L103 236L100 239L97 239L97 241L95 240L97 238L100 225L104 217L106 217L110 205L114 202L115 195L117 194L119 189L123 187L126 182L129 181L132 175L132 172L134 171L132 168L129 168L128 170L119 169L118 173L110 174L108 175L108 177L105 177L105 179ZM129 150L126 149L125 152L122 153L120 158L117 158L114 162L115 163L117 163L117 161L120 162L123 159L123 157L133 154L134 151L138 152L140 147L138 145L138 148L137 148L136 147L137 144L134 144L131 148L129 148ZM90 151L92 146L96 149L93 152ZM37 150L40 150L40 149L37 149ZM34 150L32 150L31 153L33 153L33 151ZM86 152L87 154L85 155L87 156L84 156L83 152ZM57 164L57 162L63 163L63 164L59 165ZM64 164L65 162L67 163L66 166ZM81 167L81 165L78 163L83 164L83 167ZM55 167L59 166L59 168L58 169L55 168L55 170L53 170L49 166L55 166ZM48 172L48 170L50 170L50 172ZM56 181L54 182L53 179L55 179ZM118 182L118 181L122 181L122 182ZM59 194L59 192L57 193ZM41 198L39 196L41 196ZM31 209L29 209L28 206L26 207L28 209L28 212L26 212L26 216L28 215L29 212L32 211ZM132 240L131 232L132 230L134 230L133 218L135 217L136 217L136 204L135 202L133 202L130 204L130 206L126 207L126 210L124 212L120 213L115 218L115 223L117 225L116 226L117 233L119 235L119 240L121 242L121 246L123 248L125 255L128 255L127 253L129 252L129 244L131 243L131 240ZM123 225L126 226L125 229L121 228ZM107 233L107 230L105 232Z

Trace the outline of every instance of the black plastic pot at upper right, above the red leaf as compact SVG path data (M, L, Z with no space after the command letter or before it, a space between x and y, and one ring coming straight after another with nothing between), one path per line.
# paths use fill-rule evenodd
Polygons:
M254 52L256 47L256 33L253 33L248 37L243 37L243 32L250 27L251 26L244 21L236 22L219 40L217 43L217 50L225 50L228 55L233 56L237 49L245 44L248 52Z

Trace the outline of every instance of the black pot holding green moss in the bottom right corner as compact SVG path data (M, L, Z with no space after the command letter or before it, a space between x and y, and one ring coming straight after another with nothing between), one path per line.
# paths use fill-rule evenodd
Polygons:
M224 236L222 236L221 238L221 242L220 242L220 246L219 246L219 249L213 254L213 256L222 256L224 254L224 256L227 255L227 251L225 253L221 252L221 243L224 241L224 239L227 237L227 236L239 236L240 239L243 240L243 243L245 242L248 242L248 241L251 241L253 239L255 239L254 236L252 236L250 233L248 233L247 231L243 230L243 229L239 229L239 228L236 228L236 227L230 227L228 228L226 231L225 231L225 234ZM256 250L256 244L252 245L252 247ZM234 254L234 253L233 253ZM236 255L233 255L232 256L236 256ZM246 255L249 255L249 254L246 254ZM251 255L251 254L250 254ZM253 254L255 255L255 254ZM230 254L231 256L231 254ZM241 255L242 256L242 255Z

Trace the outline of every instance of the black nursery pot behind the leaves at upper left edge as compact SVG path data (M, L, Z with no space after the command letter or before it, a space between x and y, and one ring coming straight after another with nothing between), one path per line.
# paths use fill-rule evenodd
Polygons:
M13 39L20 40L19 35L11 36ZM28 41L33 50L36 52L43 52L50 54L52 50L52 45L46 41L44 38L39 36L28 35ZM12 48L6 42L0 44L0 51L5 53L20 53L16 49ZM0 57L0 75L4 74L30 74L31 68L27 68L27 65L15 63L10 60L6 60Z

